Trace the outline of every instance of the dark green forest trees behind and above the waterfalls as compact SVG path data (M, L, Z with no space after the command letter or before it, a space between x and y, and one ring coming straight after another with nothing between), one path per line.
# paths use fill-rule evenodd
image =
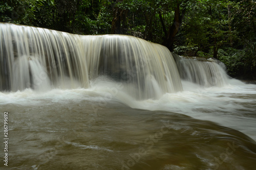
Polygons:
M256 79L256 2L6 0L0 22L81 35L125 34L183 56L214 57L230 76Z

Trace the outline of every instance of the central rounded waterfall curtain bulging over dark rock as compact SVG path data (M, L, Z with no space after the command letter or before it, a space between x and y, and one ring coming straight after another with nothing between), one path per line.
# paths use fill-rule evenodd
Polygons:
M172 54L162 45L123 35L83 36L89 76L108 75L137 99L182 90Z

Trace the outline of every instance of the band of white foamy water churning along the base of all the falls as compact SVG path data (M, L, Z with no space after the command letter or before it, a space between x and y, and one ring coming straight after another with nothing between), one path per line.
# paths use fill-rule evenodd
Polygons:
M88 89L52 89L46 92L26 89L1 92L0 103L26 107L84 101L95 113L100 114L105 106L121 102L131 108L170 111L210 120L239 130L256 140L256 85L244 84L237 80L230 80L229 83L221 88L202 88L194 83L182 81L182 92L165 93L157 100L141 101L135 100L129 94L126 84L101 77L92 82L91 88ZM94 103L90 104L90 101Z

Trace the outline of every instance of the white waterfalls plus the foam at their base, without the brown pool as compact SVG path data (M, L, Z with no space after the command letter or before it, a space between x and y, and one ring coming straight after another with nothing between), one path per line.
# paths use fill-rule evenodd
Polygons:
M118 101L208 119L256 138L255 86L229 79L215 60L174 54L181 84L167 48L135 37L78 36L3 23L1 35L0 87L14 91L1 92L1 104L88 100L103 107Z

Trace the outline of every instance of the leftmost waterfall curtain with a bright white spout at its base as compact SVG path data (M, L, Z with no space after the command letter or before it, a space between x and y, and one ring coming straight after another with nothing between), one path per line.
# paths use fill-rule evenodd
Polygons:
M77 84L89 86L86 59L78 35L4 23L0 29L0 90L30 87L40 90L41 82L49 80L51 85L60 88L75 88ZM33 63L40 71L38 75L32 68Z

